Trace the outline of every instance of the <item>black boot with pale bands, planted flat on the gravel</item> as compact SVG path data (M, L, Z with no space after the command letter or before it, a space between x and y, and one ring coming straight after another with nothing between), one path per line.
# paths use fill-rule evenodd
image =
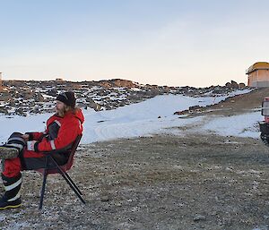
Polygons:
M21 185L22 174L16 177L6 177L2 174L4 183L4 196L0 200L0 210L3 209L15 209L22 206L21 200Z

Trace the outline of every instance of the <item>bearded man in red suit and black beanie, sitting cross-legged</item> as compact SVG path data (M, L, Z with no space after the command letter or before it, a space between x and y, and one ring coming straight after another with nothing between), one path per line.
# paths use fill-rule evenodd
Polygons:
M22 206L22 170L33 170L45 166L46 153L64 165L76 137L82 134L84 116L75 107L74 92L67 91L56 97L56 114L47 121L45 132L13 132L4 146L0 147L4 196L0 209Z

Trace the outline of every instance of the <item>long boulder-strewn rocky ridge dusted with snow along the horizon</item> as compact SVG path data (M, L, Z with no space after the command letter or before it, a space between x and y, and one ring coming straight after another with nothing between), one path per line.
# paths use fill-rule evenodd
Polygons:
M0 93L1 114L29 115L53 112L54 100L64 90L74 90L77 104L95 111L115 109L141 102L158 95L173 94L188 97L217 97L235 89L246 89L245 84L231 81L226 86L207 88L142 85L134 81L3 81Z

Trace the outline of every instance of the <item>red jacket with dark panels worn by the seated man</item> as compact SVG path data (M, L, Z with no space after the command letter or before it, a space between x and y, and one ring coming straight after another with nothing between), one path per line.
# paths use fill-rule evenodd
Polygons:
M35 151L52 151L69 149L76 137L82 134L84 116L79 109L74 114L67 112L64 117L52 115L47 121L45 132L30 132L30 140L35 143Z

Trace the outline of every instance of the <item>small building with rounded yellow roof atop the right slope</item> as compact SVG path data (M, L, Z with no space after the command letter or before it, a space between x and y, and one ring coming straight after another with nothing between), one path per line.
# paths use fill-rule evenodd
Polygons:
M269 63L258 62L252 64L246 71L247 86L269 87Z

